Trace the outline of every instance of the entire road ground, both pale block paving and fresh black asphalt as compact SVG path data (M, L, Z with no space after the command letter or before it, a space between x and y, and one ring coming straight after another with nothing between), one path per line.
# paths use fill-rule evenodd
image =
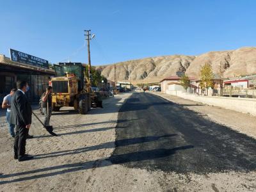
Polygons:
M33 118L35 158L21 163L0 110L0 191L256 191L254 118L161 97L123 93L88 115L63 108L51 118L58 137Z

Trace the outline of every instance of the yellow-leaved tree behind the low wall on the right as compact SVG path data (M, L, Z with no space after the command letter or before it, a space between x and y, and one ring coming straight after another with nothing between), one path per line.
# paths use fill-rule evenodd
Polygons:
M210 63L205 63L203 67L200 69L200 86L201 88L205 88L208 95L208 88L213 87L213 78L214 74L212 72L212 66Z

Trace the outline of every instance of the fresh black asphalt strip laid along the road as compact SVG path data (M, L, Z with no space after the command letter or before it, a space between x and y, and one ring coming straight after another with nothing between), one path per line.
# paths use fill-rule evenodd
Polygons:
M118 114L111 162L177 173L256 170L256 140L184 107L133 93Z

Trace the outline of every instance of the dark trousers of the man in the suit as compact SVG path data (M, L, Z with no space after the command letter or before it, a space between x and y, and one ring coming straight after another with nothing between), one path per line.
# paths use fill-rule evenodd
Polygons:
M16 134L14 140L14 155L18 158L24 156L26 152L26 139L28 137L29 129L26 125L16 125Z

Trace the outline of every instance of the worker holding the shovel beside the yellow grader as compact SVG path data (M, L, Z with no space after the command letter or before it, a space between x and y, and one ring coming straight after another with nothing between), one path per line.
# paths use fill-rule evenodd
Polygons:
M52 115L52 87L48 86L46 92L44 92L42 96L43 96L42 107L43 107L43 113L44 113L44 125L47 126L50 123L50 118ZM48 102L49 109L47 109L47 102Z

